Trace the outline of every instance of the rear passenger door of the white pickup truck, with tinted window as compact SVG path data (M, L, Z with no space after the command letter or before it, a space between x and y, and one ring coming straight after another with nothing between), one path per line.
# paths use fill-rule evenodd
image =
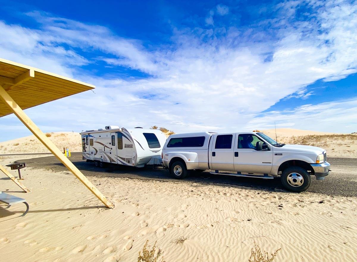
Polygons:
M234 171L233 146L236 134L215 134L210 145L210 168L212 170Z

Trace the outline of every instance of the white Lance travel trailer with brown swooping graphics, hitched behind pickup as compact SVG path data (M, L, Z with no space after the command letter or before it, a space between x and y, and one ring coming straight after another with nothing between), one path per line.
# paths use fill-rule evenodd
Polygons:
M80 134L83 159L96 166L112 163L140 168L162 163L161 150L166 136L160 130L106 126Z

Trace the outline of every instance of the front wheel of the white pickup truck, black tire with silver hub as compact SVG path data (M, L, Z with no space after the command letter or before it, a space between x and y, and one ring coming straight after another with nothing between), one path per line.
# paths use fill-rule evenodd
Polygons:
M302 192L309 188L311 183L310 174L300 166L291 166L281 175L283 186L293 192Z

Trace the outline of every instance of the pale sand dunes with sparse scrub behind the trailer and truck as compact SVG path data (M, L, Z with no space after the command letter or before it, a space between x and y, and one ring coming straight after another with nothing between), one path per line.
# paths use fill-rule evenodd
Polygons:
M275 129L262 130L275 139ZM72 152L82 151L81 136L76 132L47 133L49 139L59 148L68 147ZM166 134L167 135L167 134ZM167 135L168 136L168 135ZM277 128L278 142L319 146L327 150L330 157L357 158L357 134L332 134L327 132ZM0 142L0 155L49 152L35 136Z

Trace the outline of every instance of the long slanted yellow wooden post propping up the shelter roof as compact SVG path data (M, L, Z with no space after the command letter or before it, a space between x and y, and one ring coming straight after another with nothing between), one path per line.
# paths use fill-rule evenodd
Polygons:
M0 99L10 108L10 110L21 120L24 125L52 152L76 178L78 178L106 207L114 208L102 193L79 171L78 168L45 136L34 122L22 111L16 102L10 97L4 88L0 86Z

